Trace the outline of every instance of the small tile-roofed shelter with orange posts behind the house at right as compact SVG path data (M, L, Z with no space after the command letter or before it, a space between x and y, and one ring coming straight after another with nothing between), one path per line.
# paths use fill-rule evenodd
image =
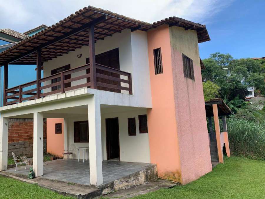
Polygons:
M223 146L226 147L226 154L230 157L226 116L231 115L232 111L221 98L205 102L205 110L209 121L210 140L216 140L218 159L219 162L223 163ZM219 116L222 117L223 132L220 131ZM215 134L213 133L212 117L214 118Z

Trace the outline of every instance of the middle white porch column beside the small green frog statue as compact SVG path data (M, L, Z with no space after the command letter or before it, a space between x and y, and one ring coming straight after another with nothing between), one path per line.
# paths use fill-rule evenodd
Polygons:
M43 175L43 113L33 113L33 170Z

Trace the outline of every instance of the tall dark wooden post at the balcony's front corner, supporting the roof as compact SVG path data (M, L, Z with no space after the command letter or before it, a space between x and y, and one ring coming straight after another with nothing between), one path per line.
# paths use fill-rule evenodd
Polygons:
M89 60L90 60L90 88L97 88L96 85L96 57L95 57L95 37L94 24L89 27Z

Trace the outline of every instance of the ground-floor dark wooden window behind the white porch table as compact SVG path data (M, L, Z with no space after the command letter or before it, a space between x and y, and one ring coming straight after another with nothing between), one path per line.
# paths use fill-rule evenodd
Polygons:
M88 121L74 122L74 142L89 142Z

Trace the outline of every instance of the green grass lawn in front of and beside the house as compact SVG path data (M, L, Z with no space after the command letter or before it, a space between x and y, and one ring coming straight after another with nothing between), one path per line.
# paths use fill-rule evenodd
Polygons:
M190 184L136 198L265 198L265 161L225 157L224 162ZM0 198L71 198L1 175L0 190Z

